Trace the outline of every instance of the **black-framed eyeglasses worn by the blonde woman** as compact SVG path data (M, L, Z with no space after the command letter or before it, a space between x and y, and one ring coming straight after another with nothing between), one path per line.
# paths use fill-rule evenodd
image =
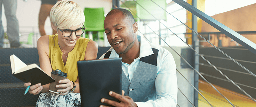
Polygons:
M76 36L81 36L84 33L85 27L83 25L82 28L78 28L76 30L70 30L70 29L64 29L64 30L59 29L59 30L62 32L63 37L70 37L73 32L75 32Z

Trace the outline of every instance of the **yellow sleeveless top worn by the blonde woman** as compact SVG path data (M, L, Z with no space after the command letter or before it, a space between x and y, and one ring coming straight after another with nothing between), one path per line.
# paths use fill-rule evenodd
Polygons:
M63 63L62 51L58 44L58 34L50 35L49 37L49 58L51 60L52 70L61 70L67 73L68 79L75 82L77 80L77 61L84 60L85 50L88 42L91 39L80 37L76 41L73 50L68 53L66 65Z

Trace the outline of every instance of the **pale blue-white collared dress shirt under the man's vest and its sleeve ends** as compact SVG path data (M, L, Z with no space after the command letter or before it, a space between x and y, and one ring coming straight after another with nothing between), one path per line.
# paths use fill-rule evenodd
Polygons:
M151 43L148 43L145 39L138 37L140 42L140 56L129 65L122 62L122 70L125 75L132 80L133 74L139 64L141 57L146 57L151 54L154 54L151 48L158 49L157 56L157 76L156 76L156 100L149 100L147 102L135 102L138 107L176 107L177 104L177 77L176 77L176 65L172 54L159 46L154 46ZM113 48L110 48L108 51L111 51L109 58L116 58L119 55L116 53ZM105 54L103 54L100 59L103 59Z

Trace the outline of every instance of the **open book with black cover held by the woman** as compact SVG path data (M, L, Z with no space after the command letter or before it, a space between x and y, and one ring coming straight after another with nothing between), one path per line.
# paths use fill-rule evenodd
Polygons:
M14 54L10 56L10 60L12 75L25 83L30 82L31 85L41 83L41 85L45 85L55 81L36 64L26 65Z

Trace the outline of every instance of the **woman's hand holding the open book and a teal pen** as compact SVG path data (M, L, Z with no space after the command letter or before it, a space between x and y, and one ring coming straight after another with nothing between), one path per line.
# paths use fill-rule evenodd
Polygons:
M28 87L29 85L31 85L31 83L24 83L25 87ZM28 89L30 94L34 94L37 95L41 92L41 90L43 90L43 86L41 86L41 83L35 84L30 86L30 88Z

